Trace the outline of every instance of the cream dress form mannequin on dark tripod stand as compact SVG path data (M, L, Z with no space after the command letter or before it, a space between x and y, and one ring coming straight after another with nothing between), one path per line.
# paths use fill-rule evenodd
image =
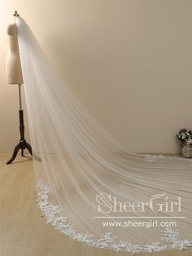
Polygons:
M15 11L14 16L19 16L17 11ZM15 160L17 153L21 149L21 156L24 156L24 149L27 148L28 152L33 156L32 148L29 143L24 139L24 110L22 109L21 94L20 89L23 82L22 69L20 64L20 52L19 44L17 38L17 26L15 23L8 25L7 27L7 42L8 42L8 53L6 59L6 73L7 73L7 83L17 84L19 86L19 97L20 97L20 143L15 146L13 155L7 165L11 164Z

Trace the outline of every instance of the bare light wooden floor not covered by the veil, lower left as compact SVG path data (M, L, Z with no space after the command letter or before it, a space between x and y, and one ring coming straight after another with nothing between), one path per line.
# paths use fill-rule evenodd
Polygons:
M66 238L46 224L37 207L33 161L17 157L7 166L10 155L0 156L1 167L1 256L122 256L108 249L96 249ZM191 256L192 249L184 252L168 251L141 256Z

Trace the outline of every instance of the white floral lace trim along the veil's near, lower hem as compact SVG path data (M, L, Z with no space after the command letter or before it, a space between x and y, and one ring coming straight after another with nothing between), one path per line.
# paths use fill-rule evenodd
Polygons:
M55 229L58 229L66 236L71 236L75 241L94 245L100 249L112 248L116 249L117 252L126 251L132 254L139 254L142 252L153 253L165 249L180 249L182 251L183 249L192 246L192 241L187 239L182 241L178 240L177 236L180 235L180 232L172 230L171 227L167 227L162 231L164 235L160 237L161 241L152 242L148 245L133 245L127 241L118 241L117 237L113 236L112 232L100 234L98 240L94 235L77 233L73 229L72 223L68 221L68 218L59 216L61 211L59 205L51 205L49 203L48 193L50 192L50 187L44 185L43 181L40 180L38 182L38 188L38 205L46 217L46 223L50 223L52 227L55 227Z

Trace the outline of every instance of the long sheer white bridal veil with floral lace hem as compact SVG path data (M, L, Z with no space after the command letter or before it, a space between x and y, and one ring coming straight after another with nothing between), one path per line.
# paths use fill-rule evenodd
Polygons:
M116 143L55 75L25 21L15 19L47 223L76 241L132 254L191 246L192 162L149 161Z

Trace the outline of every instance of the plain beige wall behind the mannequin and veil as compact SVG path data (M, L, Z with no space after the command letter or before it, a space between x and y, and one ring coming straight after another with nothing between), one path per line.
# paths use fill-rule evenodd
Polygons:
M15 10L120 143L136 152L178 152L177 130L192 129L191 0L1 0L2 152L19 139L17 88L7 85L4 67L4 33Z

